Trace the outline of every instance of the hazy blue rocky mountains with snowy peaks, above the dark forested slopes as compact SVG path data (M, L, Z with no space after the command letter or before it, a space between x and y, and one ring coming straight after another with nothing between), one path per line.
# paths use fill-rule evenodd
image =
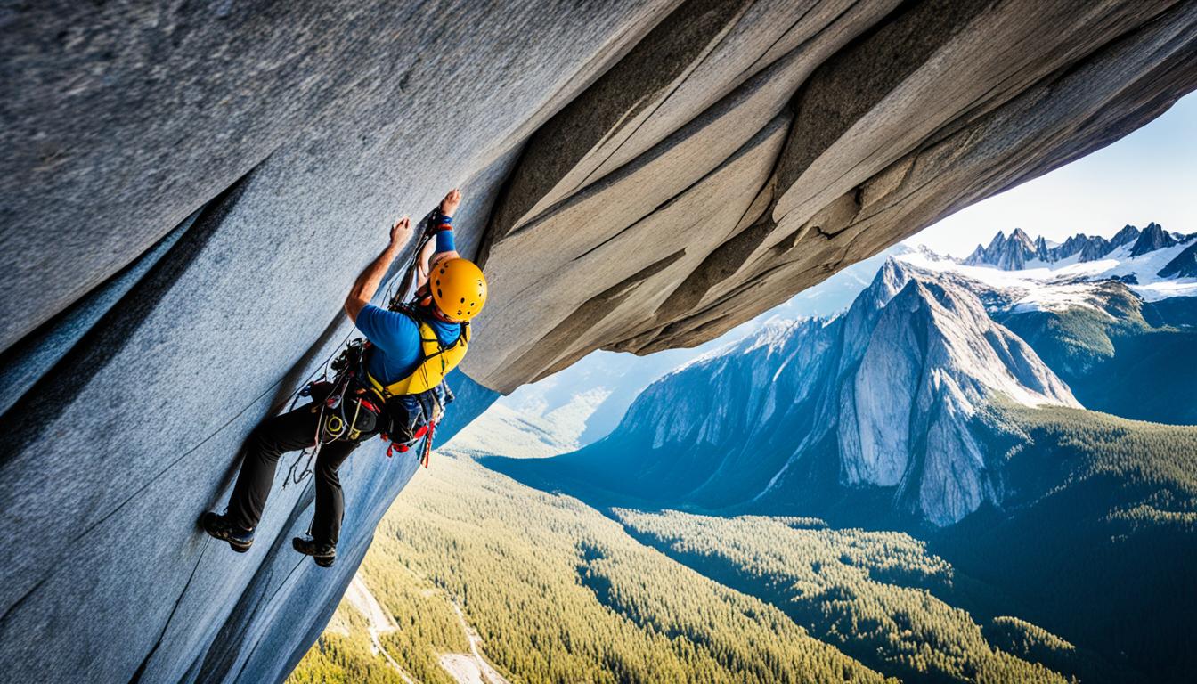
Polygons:
M1138 277L1191 259L1193 236L1152 223L1047 247L1015 229L962 261L899 252L846 311L773 320L688 361L607 438L542 467L715 510L873 490L918 523L959 522L1002 506L1002 453L978 428L995 407L1197 424L1197 371L1175 362L1197 350L1197 283ZM1100 260L1078 259L1095 246Z

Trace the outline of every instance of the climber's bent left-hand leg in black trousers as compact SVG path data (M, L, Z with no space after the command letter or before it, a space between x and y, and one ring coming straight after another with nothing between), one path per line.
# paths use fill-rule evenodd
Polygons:
M245 440L245 460L241 465L237 484L229 497L229 521L245 532L253 532L262 519L266 500L274 484L279 456L316 444L316 423L320 413L314 404L274 416L259 423ZM335 444L335 442L334 442ZM324 448L332 447L327 444Z

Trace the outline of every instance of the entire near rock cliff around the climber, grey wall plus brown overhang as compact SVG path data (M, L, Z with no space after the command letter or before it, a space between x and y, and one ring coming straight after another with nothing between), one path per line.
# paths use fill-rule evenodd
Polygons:
M1197 85L1197 6L1167 0L42 2L0 22L0 660L25 679L285 674L413 464L354 454L330 571L287 550L306 485L275 490L247 556L195 517L350 332L345 290L389 222L446 188L492 283L464 420L593 349L712 339Z

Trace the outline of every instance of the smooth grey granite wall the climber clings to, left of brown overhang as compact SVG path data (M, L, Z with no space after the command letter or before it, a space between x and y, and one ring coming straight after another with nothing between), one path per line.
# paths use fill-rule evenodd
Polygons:
M5 346L209 206L0 418L0 533L25 540L0 571L5 677L281 678L414 465L354 454L323 571L287 547L311 497L279 490L285 467L250 553L198 529L242 438L350 332L340 303L389 222L460 183L472 252L518 144L668 10L6 10Z

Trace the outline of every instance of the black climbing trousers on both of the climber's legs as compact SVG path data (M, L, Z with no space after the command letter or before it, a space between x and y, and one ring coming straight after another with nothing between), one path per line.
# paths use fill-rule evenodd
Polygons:
M288 413L267 418L250 434L245 441L245 460L229 500L229 516L233 523L244 529L255 529L266 509L266 498L274 484L279 458L286 452L315 446L320 412L318 406L312 412L312 406L316 405L308 404ZM311 523L311 535L316 541L336 545L341 517L345 515L345 496L341 494L336 470L358 448L359 441L340 438L320 448L314 468L316 514Z

